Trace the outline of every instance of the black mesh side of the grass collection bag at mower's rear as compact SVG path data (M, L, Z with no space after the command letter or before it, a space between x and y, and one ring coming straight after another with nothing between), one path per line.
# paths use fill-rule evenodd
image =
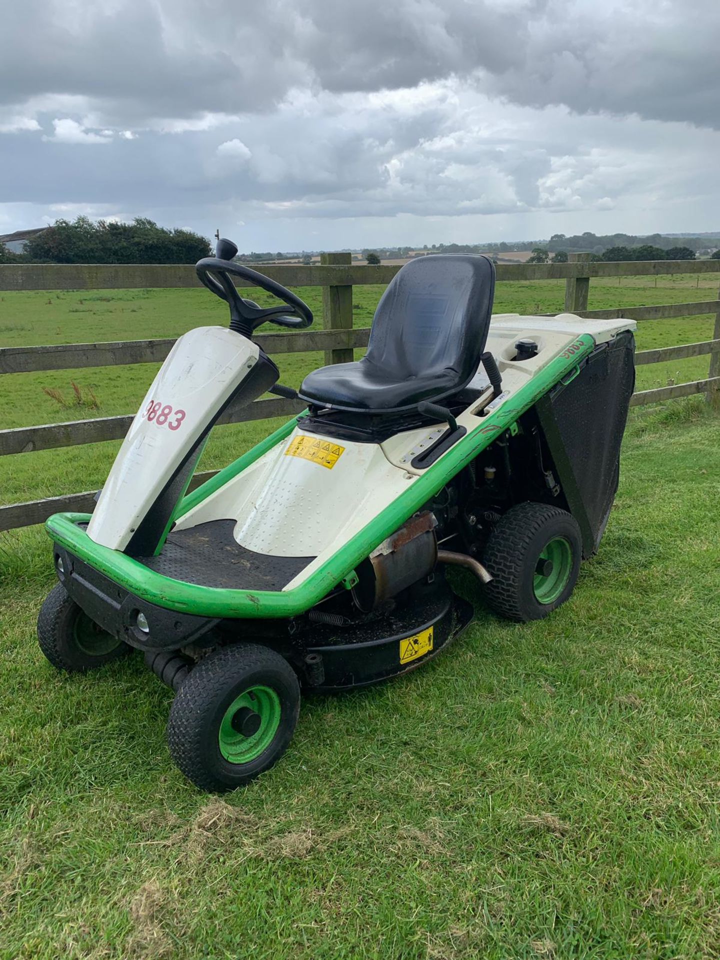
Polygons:
M625 330L601 344L572 379L564 377L537 404L583 553L597 550L620 476L620 444L635 390L635 338Z

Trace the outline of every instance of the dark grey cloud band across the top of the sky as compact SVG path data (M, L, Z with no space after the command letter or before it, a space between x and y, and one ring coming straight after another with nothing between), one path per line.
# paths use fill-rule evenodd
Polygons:
M715 127L717 0L24 0L0 33L0 99L82 97L108 124L259 111L450 76L534 107Z

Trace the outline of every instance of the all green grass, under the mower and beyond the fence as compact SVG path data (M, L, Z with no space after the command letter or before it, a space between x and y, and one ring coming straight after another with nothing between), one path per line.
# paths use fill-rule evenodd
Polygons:
M694 296L615 285L593 281L590 307ZM498 284L496 310L560 309L562 288ZM358 325L377 295L355 290ZM102 296L6 294L2 343L224 322L202 291ZM709 325L641 324L639 347ZM297 383L320 358L281 361ZM640 383L705 375L701 361ZM42 394L69 398L71 379L101 404L80 416L129 412L153 372L5 376L2 423L75 419ZM204 466L267 428L221 428ZM116 446L2 458L2 498L92 489ZM80 678L42 659L49 541L0 534L0 958L720 957L720 420L702 397L637 410L622 464L564 608L497 620L461 573L477 619L453 647L396 682L308 698L288 754L223 800L171 764L172 692L140 657Z

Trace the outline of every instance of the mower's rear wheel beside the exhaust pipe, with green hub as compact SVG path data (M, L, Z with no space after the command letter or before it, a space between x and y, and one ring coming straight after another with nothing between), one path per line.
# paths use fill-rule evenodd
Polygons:
M545 503L517 504L495 524L485 547L488 605L509 620L540 620L572 593L581 558L573 516Z

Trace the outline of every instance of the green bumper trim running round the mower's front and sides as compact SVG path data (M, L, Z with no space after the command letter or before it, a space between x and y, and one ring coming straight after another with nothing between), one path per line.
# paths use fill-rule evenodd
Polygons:
M412 516L432 496L441 490L448 480L452 479L462 468L467 467L478 453L492 444L492 441L503 430L516 421L520 414L531 407L536 400L555 386L564 374L572 370L579 360L582 360L594 347L594 340L589 334L582 334L574 343L564 349L560 356L551 361L544 370L522 387L492 415L480 420L470 433L440 458L432 467L427 468L420 477L401 493L393 503L389 504L378 516L360 530L351 540L333 554L324 564L312 573L299 587L292 590L232 590L212 587L199 587L197 584L186 584L180 580L164 577L154 570L149 570L139 564L132 557L108 547L101 546L90 540L78 523L87 522L88 514L55 514L51 516L45 527L49 536L64 546L70 553L94 566L101 573L106 574L119 586L124 587L136 596L157 604L168 610L177 610L185 613L195 613L199 616L217 616L228 618L255 617L287 617L297 616L314 607L323 599L326 593L334 588L347 576L361 560L364 560L372 550L395 533L405 520ZM272 434L267 440L249 450L244 457L231 464L217 476L208 480L195 493L185 497L183 508L188 500L204 491L209 485L220 481L223 473L225 479L212 487L209 492L217 490L232 476L235 476L245 466L256 460L281 439L278 434L286 430L288 436L295 427L295 420L285 424L279 431ZM276 438L274 440L274 438ZM273 443L270 443L273 441ZM250 458L250 459L246 459ZM244 467L237 465L244 461ZM193 500L191 506L200 503L204 496ZM190 509L189 507L187 508ZM186 510L183 509L183 513Z

